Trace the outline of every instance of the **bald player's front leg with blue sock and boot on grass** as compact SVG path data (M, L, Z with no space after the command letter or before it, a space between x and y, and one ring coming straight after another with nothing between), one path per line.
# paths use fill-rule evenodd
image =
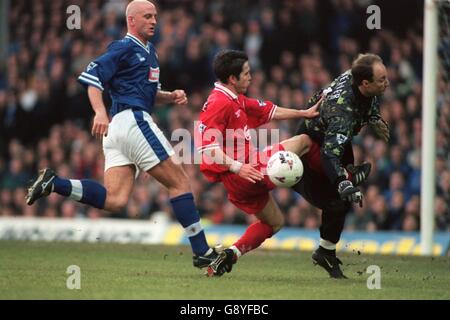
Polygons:
M182 166L175 164L170 157L147 172L168 189L175 217L183 226L195 254L194 266L199 268L208 266L217 255L206 242L189 179Z

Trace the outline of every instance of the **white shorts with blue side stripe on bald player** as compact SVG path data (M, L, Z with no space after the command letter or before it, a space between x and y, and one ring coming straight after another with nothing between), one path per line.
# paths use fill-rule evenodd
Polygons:
M116 114L103 138L105 171L112 167L134 164L148 171L175 152L164 134L143 111L124 110Z

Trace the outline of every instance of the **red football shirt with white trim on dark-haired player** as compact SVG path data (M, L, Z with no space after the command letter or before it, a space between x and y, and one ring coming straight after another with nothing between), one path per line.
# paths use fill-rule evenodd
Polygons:
M250 129L269 122L276 108L270 101L250 99L243 94L236 95L220 83L215 83L195 128L198 152L202 154L206 150L221 148L230 158L249 163L250 155L256 154L256 148L251 143ZM219 181L220 175L228 172L228 168L212 163L202 155L200 171L208 180Z

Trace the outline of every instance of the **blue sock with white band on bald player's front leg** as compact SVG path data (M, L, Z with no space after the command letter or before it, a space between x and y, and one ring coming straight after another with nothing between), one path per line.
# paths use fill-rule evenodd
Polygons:
M205 232L200 225L200 216L194 204L194 196L192 193L185 193L170 199L170 203L178 222L186 231L192 251L197 255L204 255L209 250L209 246L206 242Z

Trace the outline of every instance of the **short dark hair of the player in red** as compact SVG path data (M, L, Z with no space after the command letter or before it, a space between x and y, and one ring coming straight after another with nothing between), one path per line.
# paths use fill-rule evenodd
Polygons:
M244 63L247 61L248 56L243 51L221 50L214 57L214 74L223 83L228 83L229 76L239 79Z

